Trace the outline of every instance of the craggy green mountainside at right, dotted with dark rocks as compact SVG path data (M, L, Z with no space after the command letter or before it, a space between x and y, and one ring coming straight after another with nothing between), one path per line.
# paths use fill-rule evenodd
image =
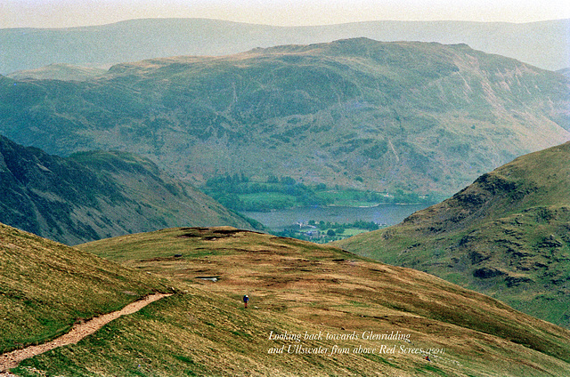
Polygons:
M570 327L570 143L521 156L395 227L338 242Z

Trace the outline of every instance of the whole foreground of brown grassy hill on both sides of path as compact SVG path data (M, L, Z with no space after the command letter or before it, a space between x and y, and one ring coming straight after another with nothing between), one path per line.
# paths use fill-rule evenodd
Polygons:
M9 227L0 242L4 344L12 329L4 350L60 314L64 332L135 294L175 292L24 360L12 369L21 376L542 377L570 368L567 330L330 246L232 228L164 229L83 252Z

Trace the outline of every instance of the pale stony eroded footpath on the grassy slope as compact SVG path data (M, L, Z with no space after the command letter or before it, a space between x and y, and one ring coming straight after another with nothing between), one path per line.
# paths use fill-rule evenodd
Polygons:
M94 317L83 324L74 325L73 328L59 338L49 341L44 344L39 344L37 346L29 346L25 349L16 349L12 352L6 353L0 356L0 371L7 371L8 369L15 368L20 361L25 360L29 357L34 357L47 352L51 349L55 349L61 346L67 346L68 344L77 343L81 341L85 336L95 333L97 330L102 328L103 325L107 325L110 321L117 319L121 316L126 316L128 314L133 314L140 309L144 308L153 301L158 301L164 297L171 296L172 293L157 293L146 296L144 299L139 301L134 301L125 308L118 311L114 311L109 314L102 315L100 317ZM0 372L0 376L7 375Z

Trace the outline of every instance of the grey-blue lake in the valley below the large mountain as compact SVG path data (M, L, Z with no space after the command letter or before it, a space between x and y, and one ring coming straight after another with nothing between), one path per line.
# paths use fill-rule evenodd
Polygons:
M427 208L429 205L377 205L373 207L300 207L271 212L248 212L242 214L261 222L274 231L282 231L298 222L330 221L351 223L354 221L374 221L379 225L395 225L411 213Z

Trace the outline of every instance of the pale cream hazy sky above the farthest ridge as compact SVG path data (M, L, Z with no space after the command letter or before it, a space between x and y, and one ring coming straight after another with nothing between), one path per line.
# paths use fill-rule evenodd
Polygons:
M568 0L0 0L0 28L65 28L199 17L270 25L361 20L570 19Z

